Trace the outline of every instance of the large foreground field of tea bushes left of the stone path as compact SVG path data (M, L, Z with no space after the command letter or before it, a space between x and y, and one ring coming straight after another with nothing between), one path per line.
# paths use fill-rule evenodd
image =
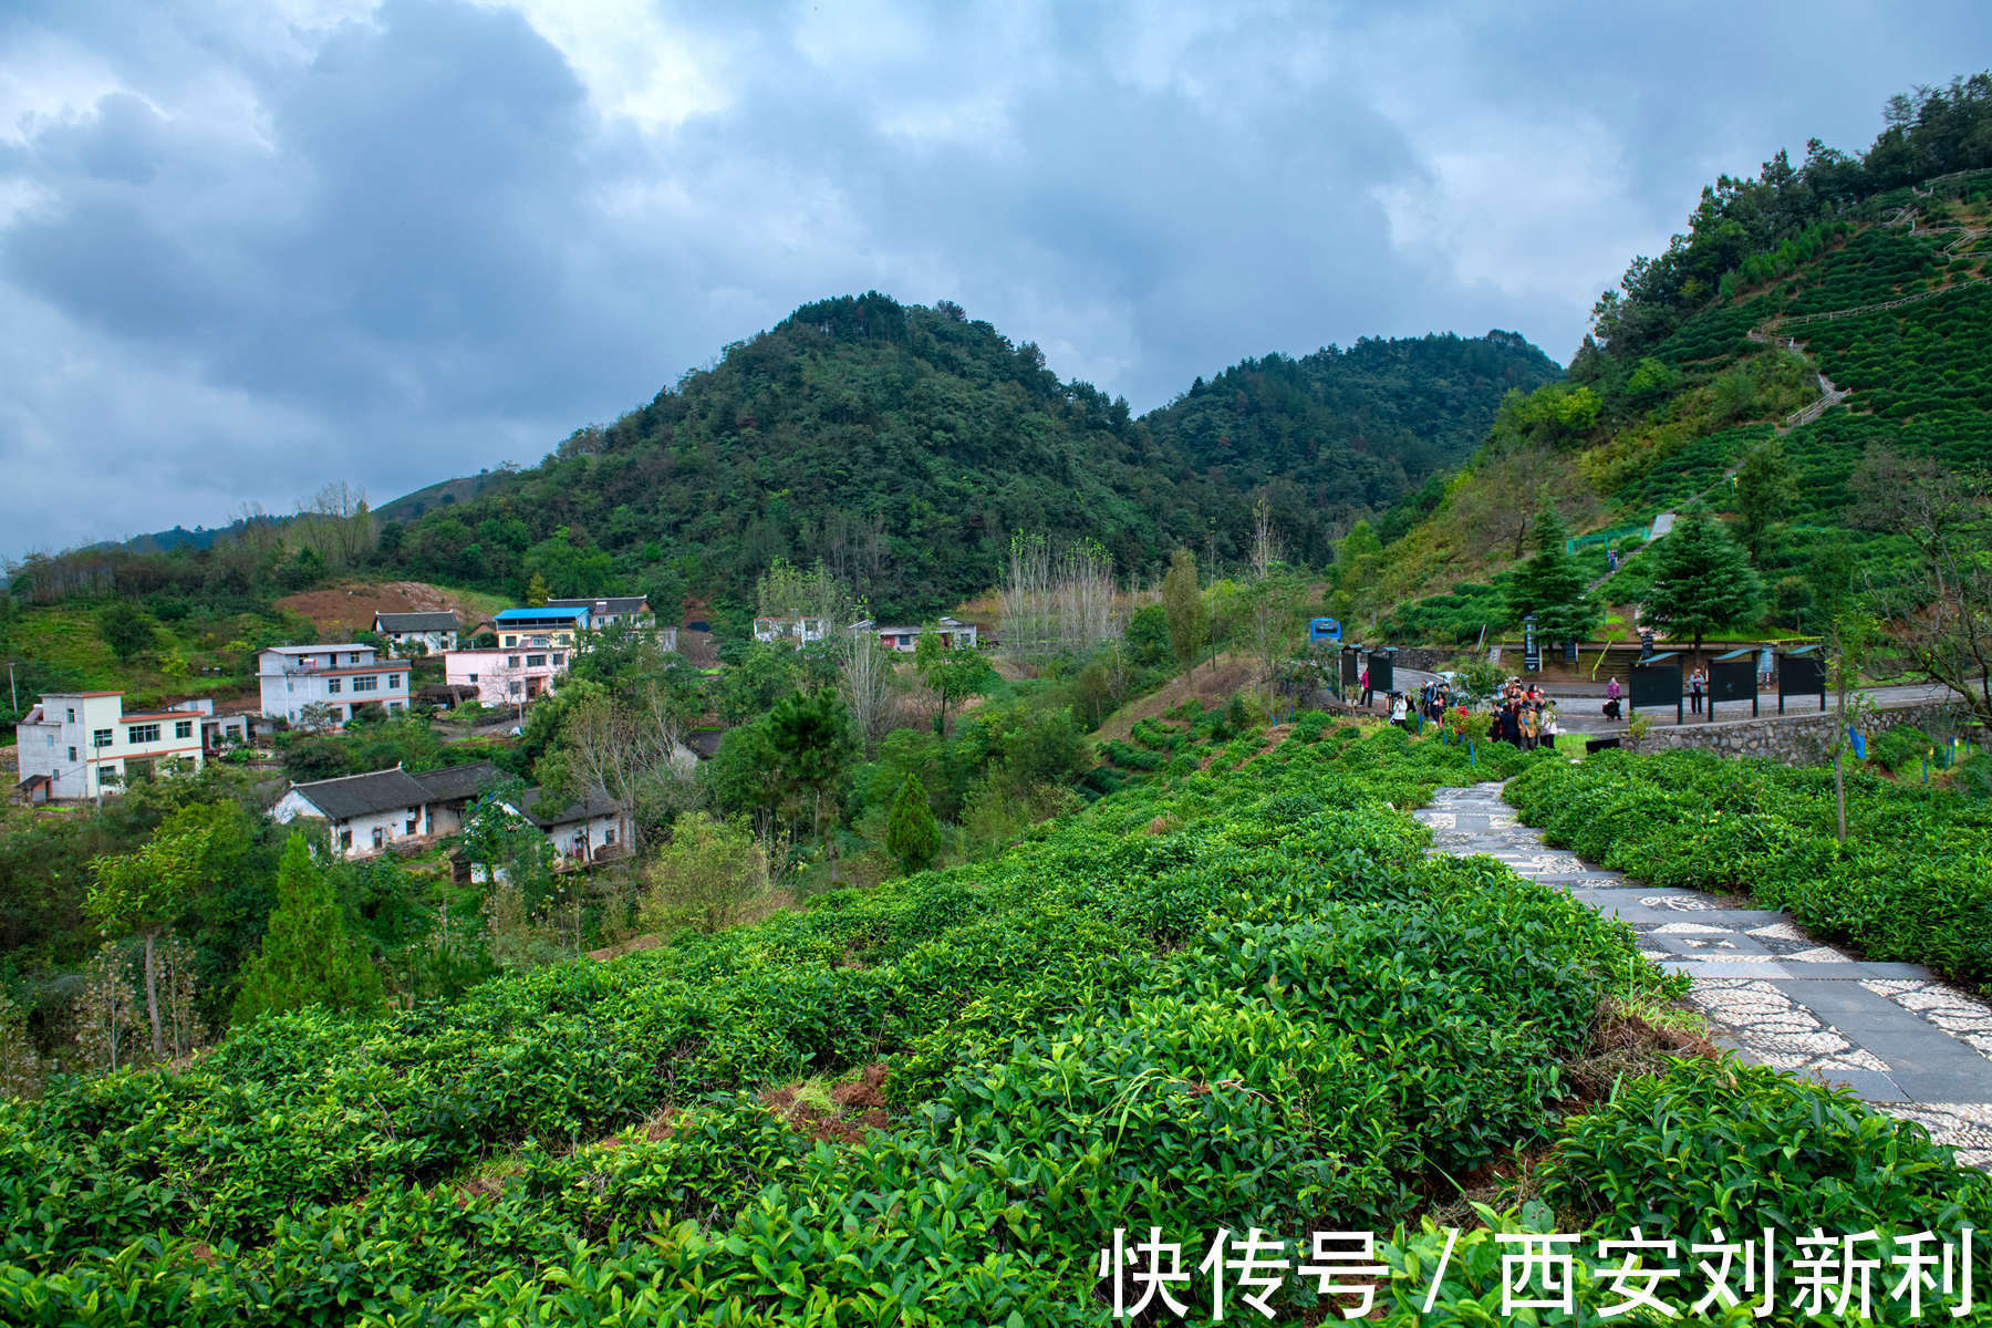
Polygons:
M1498 1314L1498 1230L1643 1224L1685 1262L1717 1226L1992 1224L1918 1127L1771 1071L1689 1059L1584 1105L1600 1009L1675 988L1568 896L1428 858L1402 808L1588 784L1303 721L1275 747L1145 725L1125 753L1159 761L988 864L60 1079L0 1107L0 1320L1104 1324L1100 1250L1153 1224L1185 1270L1219 1228L1378 1230L1380 1322L1576 1322ZM872 1083L884 1129L769 1107ZM1436 1211L1518 1147L1540 1199L1468 1220L1426 1312ZM1281 1320L1339 1320L1313 1292L1289 1278Z

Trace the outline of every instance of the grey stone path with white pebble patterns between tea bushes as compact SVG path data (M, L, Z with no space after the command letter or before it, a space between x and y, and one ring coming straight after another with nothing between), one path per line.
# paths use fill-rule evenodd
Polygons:
M1855 962L1789 914L1663 890L1542 842L1500 784L1440 788L1416 812L1434 852L1488 854L1623 918L1661 968L1693 980L1717 1043L1743 1059L1845 1083L1992 1169L1992 1007L1920 964Z

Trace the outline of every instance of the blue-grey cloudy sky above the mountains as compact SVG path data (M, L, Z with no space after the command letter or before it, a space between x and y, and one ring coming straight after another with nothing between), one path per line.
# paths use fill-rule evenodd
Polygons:
M1568 358L1701 183L1863 147L1988 38L1980 0L8 0L0 555L532 462L872 287L1137 410L1363 334Z

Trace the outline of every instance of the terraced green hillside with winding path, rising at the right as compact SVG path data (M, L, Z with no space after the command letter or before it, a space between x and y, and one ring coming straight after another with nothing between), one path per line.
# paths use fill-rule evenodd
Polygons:
M1892 108L1861 157L1815 141L1801 167L1779 153L1757 179L1723 177L1665 255L1600 299L1568 380L1504 404L1446 496L1384 550L1363 603L1404 637L1512 627L1498 587L1540 502L1602 575L1606 536L1635 550L1665 512L1699 504L1741 530L1739 468L1771 440L1791 502L1757 552L1767 587L1829 540L1886 569L1906 546L1863 512L1870 448L1946 470L1992 456L1988 237L1984 76ZM1635 601L1647 567L1631 557L1604 597ZM1434 581L1452 589L1434 599ZM1801 621L1795 593L1773 593L1757 627Z

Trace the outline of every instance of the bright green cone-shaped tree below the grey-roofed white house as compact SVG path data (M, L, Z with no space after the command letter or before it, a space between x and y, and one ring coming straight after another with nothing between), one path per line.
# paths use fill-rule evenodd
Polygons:
M263 952L243 968L233 1021L305 1005L365 1013L384 999L380 974L347 932L331 882L311 860L305 836L293 834L277 866L277 908Z

